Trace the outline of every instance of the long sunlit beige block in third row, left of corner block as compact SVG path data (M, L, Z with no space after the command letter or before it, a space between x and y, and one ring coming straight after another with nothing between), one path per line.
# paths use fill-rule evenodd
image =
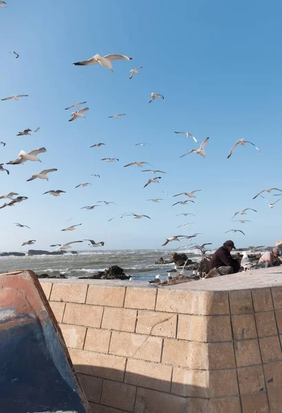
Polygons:
M162 339L148 335L137 335L129 332L113 331L109 353L133 359L160 362L162 355Z

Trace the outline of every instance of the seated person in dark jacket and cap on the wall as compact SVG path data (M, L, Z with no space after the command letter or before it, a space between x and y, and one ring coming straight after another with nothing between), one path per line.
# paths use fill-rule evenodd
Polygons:
M223 246L217 249L210 260L210 268L217 268L220 275L238 273L241 266L237 260L233 260L230 255L232 249L235 248L234 242L228 240Z

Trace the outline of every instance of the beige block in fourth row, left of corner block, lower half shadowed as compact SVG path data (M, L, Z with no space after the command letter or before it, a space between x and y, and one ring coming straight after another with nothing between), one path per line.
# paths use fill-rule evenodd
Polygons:
M154 390L171 390L171 366L151 361L127 360L124 382Z

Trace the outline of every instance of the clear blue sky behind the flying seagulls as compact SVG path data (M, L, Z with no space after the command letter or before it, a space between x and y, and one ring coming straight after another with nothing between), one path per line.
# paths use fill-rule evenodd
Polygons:
M49 248L91 238L104 240L110 249L160 248L166 237L194 232L202 233L198 242L214 246L226 238L237 247L271 245L282 238L282 202L270 210L262 198L252 200L261 189L282 187L281 1L6 2L7 8L0 8L0 97L29 97L0 102L0 140L7 143L0 146L0 159L15 159L21 149L43 146L47 152L39 156L42 163L10 165L10 176L0 174L1 193L28 196L26 202L0 210L0 251L26 251L29 247L21 243L32 239L34 247ZM113 74L100 65L72 65L96 53L126 54L133 61L113 62ZM129 70L138 66L143 69L129 81ZM164 100L149 105L151 92L163 94ZM68 122L72 111L64 108L83 100L87 118ZM118 113L126 116L108 118ZM27 127L41 130L16 136ZM197 145L174 134L177 130L190 131L199 142L209 136L206 158L191 153L180 159ZM251 140L263 153L246 145L226 160L239 138ZM96 142L106 145L90 149ZM151 145L137 147L138 142ZM120 161L102 162L105 157ZM135 160L166 171L160 184L143 189L153 174L136 166L123 168ZM26 182L32 173L50 168L58 171L49 182ZM91 186L75 189L81 182ZM50 189L66 193L42 195ZM187 198L162 193L195 189L202 192L188 206L171 207ZM154 204L149 198L164 201ZM80 209L98 200L117 206ZM252 222L230 222L245 208L257 209L245 216ZM151 220L108 222L126 212ZM197 217L175 217L182 212ZM195 224L177 229L187 222ZM80 223L74 232L61 232ZM224 234L229 229L246 235ZM81 245L88 248L87 242Z

